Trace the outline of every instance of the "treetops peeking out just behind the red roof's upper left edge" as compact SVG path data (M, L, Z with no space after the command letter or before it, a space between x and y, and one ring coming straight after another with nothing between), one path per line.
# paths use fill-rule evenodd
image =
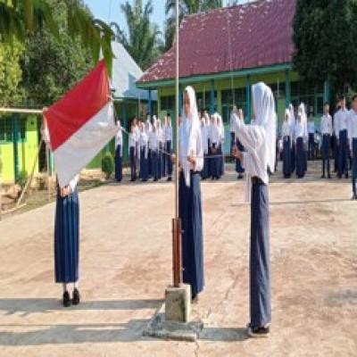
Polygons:
M237 0L228 1L228 6L237 5ZM185 15L205 12L223 7L222 0L179 0L179 22ZM165 13L170 15L165 21L165 50L172 46L176 25L176 0L166 0Z

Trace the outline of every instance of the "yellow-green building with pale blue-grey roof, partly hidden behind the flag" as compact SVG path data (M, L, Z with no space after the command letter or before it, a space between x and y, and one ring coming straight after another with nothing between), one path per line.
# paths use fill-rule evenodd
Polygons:
M112 96L115 112L121 125L129 130L130 119L139 116L144 118L146 112L157 112L157 94L154 90L137 88L136 81L143 76L143 71L131 58L123 46L112 42L115 59L112 63ZM27 115L0 112L0 160L2 163L1 179L4 183L13 183L19 178L20 172L26 170L29 174L35 162L38 145L41 139L40 115ZM128 136L123 135L124 160L128 158ZM87 169L101 168L104 154L111 151L114 154L114 140L96 155L87 165ZM50 167L54 170L52 154L49 156ZM35 175L47 170L46 149L38 156Z

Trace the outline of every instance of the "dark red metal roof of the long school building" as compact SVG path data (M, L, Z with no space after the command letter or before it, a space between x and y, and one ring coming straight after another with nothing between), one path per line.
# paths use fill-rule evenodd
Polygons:
M179 77L292 61L295 0L261 0L188 15L179 29ZM175 47L139 83L175 77Z

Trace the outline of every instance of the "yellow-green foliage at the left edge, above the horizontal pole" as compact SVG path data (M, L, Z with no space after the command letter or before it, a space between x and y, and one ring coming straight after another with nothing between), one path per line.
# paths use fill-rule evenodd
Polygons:
M22 95L17 89L21 81L20 56L22 46L13 46L0 42L0 106L8 106L21 101Z

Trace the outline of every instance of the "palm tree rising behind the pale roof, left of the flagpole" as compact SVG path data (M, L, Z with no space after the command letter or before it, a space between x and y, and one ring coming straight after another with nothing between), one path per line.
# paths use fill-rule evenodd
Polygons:
M120 8L128 24L128 34L120 31L120 42L145 71L162 52L162 33L159 27L150 21L153 14L152 0L145 4L144 9L142 0L134 0L134 4L127 1L121 4Z

